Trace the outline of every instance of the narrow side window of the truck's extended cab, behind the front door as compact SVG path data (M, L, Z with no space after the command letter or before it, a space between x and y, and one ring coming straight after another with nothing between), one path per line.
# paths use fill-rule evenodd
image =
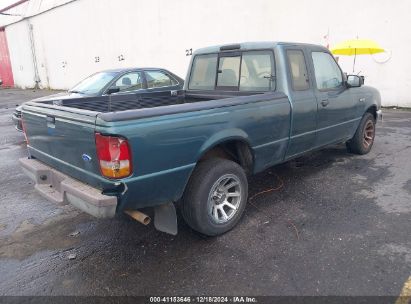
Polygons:
M308 90L310 85L308 82L308 72L304 60L304 53L301 50L288 50L287 57L290 64L293 90Z

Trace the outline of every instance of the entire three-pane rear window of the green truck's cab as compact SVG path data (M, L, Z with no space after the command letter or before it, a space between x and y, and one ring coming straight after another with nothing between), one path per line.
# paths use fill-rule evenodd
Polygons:
M225 52L195 56L188 89L267 92L274 80L272 51Z

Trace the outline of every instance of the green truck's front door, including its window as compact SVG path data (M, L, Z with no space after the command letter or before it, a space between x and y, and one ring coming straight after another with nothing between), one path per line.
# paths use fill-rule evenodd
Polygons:
M343 73L326 51L312 51L311 60L318 104L316 146L347 140L358 117Z

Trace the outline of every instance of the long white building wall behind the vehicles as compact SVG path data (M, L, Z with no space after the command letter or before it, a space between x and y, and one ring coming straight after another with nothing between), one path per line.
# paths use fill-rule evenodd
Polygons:
M404 25L410 11L407 0L77 0L11 24L6 33L15 83L32 87L26 41L27 23L33 25L40 86L53 89L115 67L160 66L184 78L186 49L214 44L277 40L332 46L369 38L387 52L358 56L355 72L381 90L384 105L411 107L411 33ZM352 72L353 57L340 56L339 62Z

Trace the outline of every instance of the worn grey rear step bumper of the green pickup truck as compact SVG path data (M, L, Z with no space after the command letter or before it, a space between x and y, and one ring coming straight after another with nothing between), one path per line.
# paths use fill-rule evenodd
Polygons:
M117 197L73 179L36 160L21 158L23 171L35 182L35 189L48 200L70 203L98 218L110 218L116 213Z

